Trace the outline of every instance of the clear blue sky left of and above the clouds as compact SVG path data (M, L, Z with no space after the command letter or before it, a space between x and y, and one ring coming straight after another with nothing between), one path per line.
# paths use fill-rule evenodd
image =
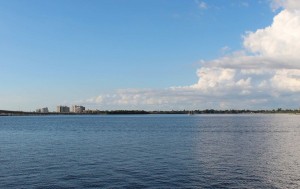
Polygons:
M0 109L153 109L95 99L127 89L160 98L157 91L191 86L201 62L245 48L242 36L279 11L269 0L0 0Z

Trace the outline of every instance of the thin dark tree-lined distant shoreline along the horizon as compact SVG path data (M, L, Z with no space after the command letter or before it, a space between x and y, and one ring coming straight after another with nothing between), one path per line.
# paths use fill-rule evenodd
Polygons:
M147 114L300 114L300 110L295 109L273 109L273 110L172 110L172 111L145 111L145 110L111 110L111 111L87 111L84 113L59 113L59 112L25 112L0 110L0 116L42 116L42 115L147 115Z

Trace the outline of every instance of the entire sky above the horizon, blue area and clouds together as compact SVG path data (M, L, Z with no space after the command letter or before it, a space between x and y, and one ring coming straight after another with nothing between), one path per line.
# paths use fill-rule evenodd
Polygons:
M0 109L300 107L298 0L0 0Z

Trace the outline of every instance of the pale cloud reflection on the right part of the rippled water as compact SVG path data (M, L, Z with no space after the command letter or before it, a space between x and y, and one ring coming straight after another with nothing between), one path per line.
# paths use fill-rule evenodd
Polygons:
M204 169L209 170L208 174L218 178L214 187L224 184L229 188L299 187L298 117L211 118L215 119L206 119L206 123L197 120L198 125L207 125L199 132L197 155Z

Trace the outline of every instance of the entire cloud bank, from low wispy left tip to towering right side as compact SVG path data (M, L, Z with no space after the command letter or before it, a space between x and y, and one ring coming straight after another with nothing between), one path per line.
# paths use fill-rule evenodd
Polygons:
M163 90L125 89L82 103L106 109L298 108L300 1L273 0L273 23L246 32L244 48L202 61L198 82Z

